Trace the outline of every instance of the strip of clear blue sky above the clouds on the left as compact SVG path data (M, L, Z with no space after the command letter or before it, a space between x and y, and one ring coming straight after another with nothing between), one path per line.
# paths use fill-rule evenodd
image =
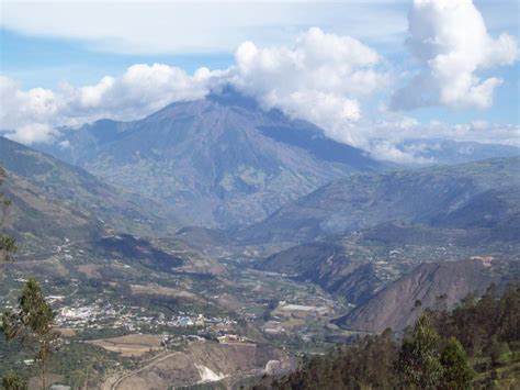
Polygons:
M121 54L91 49L79 40L27 36L0 29L2 74L20 80L24 88L54 88L60 81L87 85L105 75L118 75L140 63L179 66L188 73L206 66L226 68L229 53Z

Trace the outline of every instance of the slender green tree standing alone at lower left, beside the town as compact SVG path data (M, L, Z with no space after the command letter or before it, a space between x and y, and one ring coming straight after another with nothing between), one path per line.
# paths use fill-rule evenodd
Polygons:
M47 363L52 355L56 333L53 331L54 313L45 301L39 283L30 278L19 299L16 311L5 311L2 331L8 341L16 337L37 345L35 360L38 361L42 388L46 388Z

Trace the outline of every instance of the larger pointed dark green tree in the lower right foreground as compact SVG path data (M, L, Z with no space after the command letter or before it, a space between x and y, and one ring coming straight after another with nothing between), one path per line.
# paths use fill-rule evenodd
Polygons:
M428 316L417 321L400 348L398 374L406 386L419 389L437 388L443 375L440 361L441 338Z

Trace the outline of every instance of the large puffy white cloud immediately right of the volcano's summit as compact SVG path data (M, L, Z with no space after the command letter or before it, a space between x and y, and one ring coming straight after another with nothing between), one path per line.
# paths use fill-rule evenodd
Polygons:
M361 118L359 99L388 83L380 55L350 36L310 29L294 47L241 44L229 80L268 108L313 121L334 138ZM344 140L343 140L344 141Z

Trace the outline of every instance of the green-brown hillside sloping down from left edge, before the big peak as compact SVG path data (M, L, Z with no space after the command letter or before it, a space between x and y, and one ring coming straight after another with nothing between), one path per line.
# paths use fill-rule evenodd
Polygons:
M24 248L48 248L67 237L84 241L118 231L166 232L172 213L87 171L0 137L2 192L12 201L8 229Z

